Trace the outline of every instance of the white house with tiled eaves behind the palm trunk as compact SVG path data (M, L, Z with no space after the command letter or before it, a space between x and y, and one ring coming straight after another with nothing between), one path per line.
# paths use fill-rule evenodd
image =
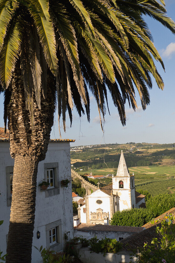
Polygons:
M2 135L1 131L2 128L0 128L0 135ZM69 237L73 238L70 162L70 142L73 141L50 140L46 158L38 165L32 263L42 262L40 253L34 246L50 246L51 250L62 251L65 232L70 231ZM0 138L0 220L4 220L0 226L0 251L3 251L3 254L6 254L7 248L10 206L13 194L11 183L14 159L10 156L9 146L9 139ZM43 179L47 181L47 171L49 171L49 174L54 174L54 183L53 185L50 184L47 190L41 190L38 184ZM67 188L61 187L60 182L63 179L70 181ZM37 239L37 231L40 232L39 239Z

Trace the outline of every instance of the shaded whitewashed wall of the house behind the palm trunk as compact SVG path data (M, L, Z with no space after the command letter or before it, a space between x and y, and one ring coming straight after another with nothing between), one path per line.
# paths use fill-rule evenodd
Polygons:
M70 163L70 143L49 143L46 158L38 165L37 185L44 178L44 163L59 163L59 184L63 179L69 179L71 182L71 163ZM14 160L10 156L9 143L0 142L0 211L1 218L4 220L0 226L0 250L6 252L6 236L8 234L10 207L7 207L7 189L6 189L6 166L14 165ZM62 228L62 241L64 242L64 233L70 231L70 238L73 237L73 211L72 211L72 186L61 188L60 194L45 197L45 192L36 189L36 210L33 245L36 247L46 247L46 225L60 220ZM40 239L37 239L36 232L40 231ZM62 244L63 247L64 244ZM54 250L54 248L53 248ZM5 253L4 253L5 254ZM41 262L40 253L34 247L32 249L32 263Z

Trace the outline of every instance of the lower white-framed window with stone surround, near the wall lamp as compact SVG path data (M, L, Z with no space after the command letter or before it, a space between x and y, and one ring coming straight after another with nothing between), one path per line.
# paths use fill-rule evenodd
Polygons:
M46 247L54 251L62 250L62 227L61 219L46 225Z

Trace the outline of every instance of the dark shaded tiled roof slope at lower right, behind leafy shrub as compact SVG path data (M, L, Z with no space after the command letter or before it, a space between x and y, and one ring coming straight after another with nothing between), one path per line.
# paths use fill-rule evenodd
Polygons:
M139 233L126 237L123 240L120 240L120 242L123 244L122 250L137 251L137 249L143 248L144 243L146 242L148 242L148 245L151 245L151 241L154 237L157 237L155 225L150 227L149 229L145 229Z

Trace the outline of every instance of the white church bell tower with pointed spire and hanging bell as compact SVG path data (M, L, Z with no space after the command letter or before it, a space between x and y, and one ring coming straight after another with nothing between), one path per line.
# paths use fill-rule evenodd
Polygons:
M134 174L130 175L129 173L123 150L121 151L117 174L112 178L112 183L113 194L117 196L117 210L135 208Z

